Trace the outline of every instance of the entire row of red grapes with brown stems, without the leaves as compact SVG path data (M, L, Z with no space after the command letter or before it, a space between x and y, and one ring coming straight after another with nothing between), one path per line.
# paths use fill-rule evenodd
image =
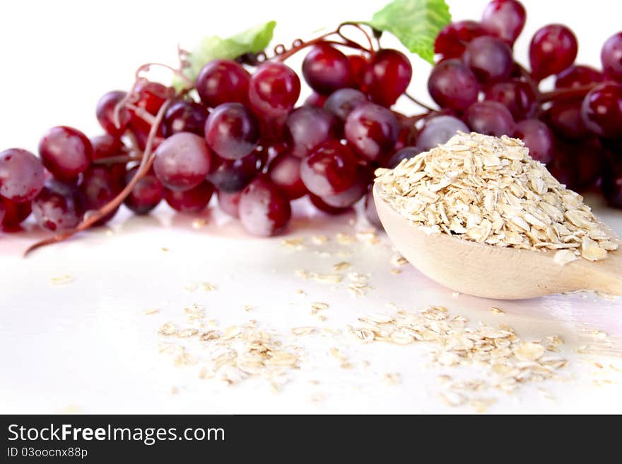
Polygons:
M411 61L380 47L368 26L343 23L291 48L205 64L182 88L136 71L127 92L103 95L95 115L104 133L88 138L57 126L41 138L38 157L0 153L0 221L19 230L32 213L54 232L40 246L102 225L124 205L148 214L161 201L200 213L216 196L224 213L250 234L286 230L291 202L308 197L338 215L362 198L368 220L382 227L370 195L377 167L394 167L457 131L521 138L536 160L572 189L600 189L622 208L622 32L603 45L602 69L575 64L570 28L545 25L532 37L529 66L513 46L527 14L517 0L493 0L480 20L459 20L435 40L428 76L438 109L392 109L407 93ZM346 28L363 32L352 40ZM306 52L300 73L285 64ZM541 81L555 76L555 88ZM312 94L298 102L302 80ZM28 252L27 251L27 252Z

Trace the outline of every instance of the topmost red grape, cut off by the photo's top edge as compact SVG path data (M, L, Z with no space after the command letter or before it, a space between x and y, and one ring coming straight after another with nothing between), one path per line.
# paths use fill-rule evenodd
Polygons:
M520 1L493 0L483 11L481 27L511 45L520 35L526 18L527 13Z

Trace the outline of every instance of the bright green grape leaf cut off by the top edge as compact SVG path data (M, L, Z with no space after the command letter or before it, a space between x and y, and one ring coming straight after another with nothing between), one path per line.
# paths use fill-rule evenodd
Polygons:
M434 63L434 40L452 16L445 0L393 0L368 23L392 33L404 47Z

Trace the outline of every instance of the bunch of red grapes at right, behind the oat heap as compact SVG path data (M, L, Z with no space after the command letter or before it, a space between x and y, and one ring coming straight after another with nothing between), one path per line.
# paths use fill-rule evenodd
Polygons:
M600 185L611 206L622 208L622 32L604 43L599 71L575 64L572 30L545 25L529 44L527 71L512 57L525 19L520 1L493 0L479 22L451 23L440 32L441 59L428 90L451 115L447 132L464 122L473 131L522 138L570 189ZM539 86L549 76L555 88L545 93ZM422 136L417 145L429 148Z

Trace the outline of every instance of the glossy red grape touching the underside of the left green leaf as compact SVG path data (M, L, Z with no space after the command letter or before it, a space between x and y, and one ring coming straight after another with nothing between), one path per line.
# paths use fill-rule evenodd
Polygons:
M241 64L215 59L203 66L196 78L196 91L204 105L215 108L229 102L246 103L250 74Z

